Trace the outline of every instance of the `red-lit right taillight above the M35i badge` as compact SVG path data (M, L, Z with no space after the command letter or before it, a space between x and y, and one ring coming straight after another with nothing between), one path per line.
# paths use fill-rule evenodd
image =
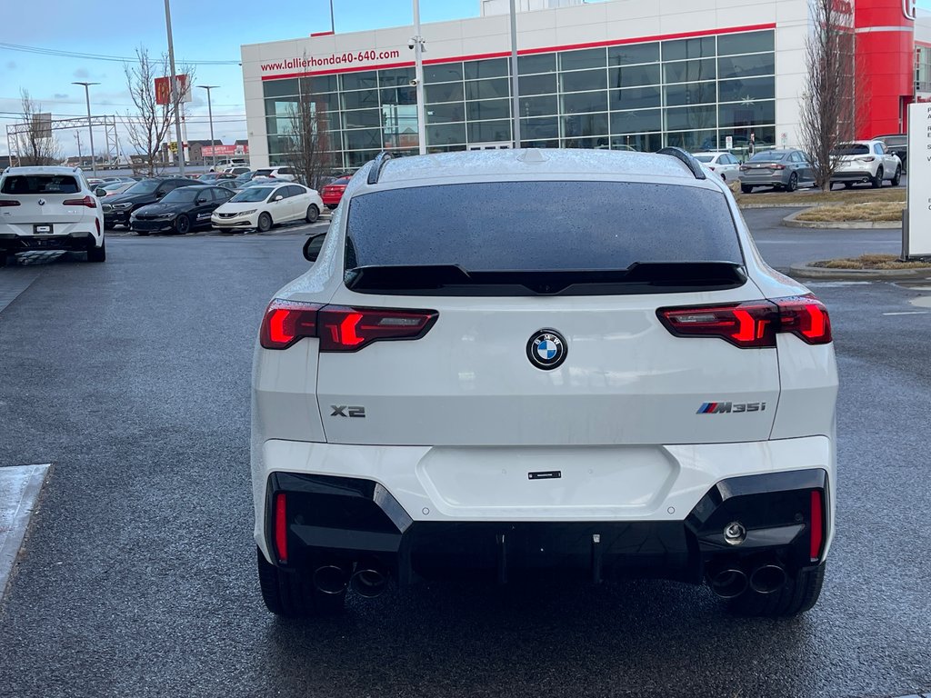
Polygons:
M809 344L831 341L828 310L813 296L660 308L656 315L677 337L716 337L741 349L775 347L777 332L790 332Z

